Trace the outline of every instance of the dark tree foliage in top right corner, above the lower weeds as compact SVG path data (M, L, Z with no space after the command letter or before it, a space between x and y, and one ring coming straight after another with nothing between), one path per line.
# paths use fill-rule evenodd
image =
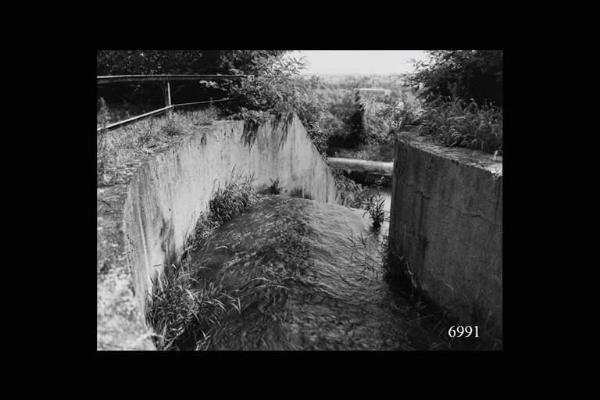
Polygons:
M439 97L473 99L502 107L502 50L431 50L418 62L412 84L422 84L426 102Z

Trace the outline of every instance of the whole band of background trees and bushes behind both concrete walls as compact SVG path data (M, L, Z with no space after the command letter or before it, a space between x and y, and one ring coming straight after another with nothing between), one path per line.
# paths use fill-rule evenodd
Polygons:
M219 99L223 117L261 123L270 115L295 112L322 154L350 149L349 156L391 161L396 132L422 125L422 132L446 146L501 153L502 51L433 50L411 76L305 77L303 62L283 50L100 51L104 74L242 74L241 79L173 83L175 102ZM412 85L412 87L411 87ZM419 99L414 87L420 86ZM365 97L357 89L385 95ZM160 85L104 85L100 95L115 111L109 122L162 105ZM148 104L152 103L154 107ZM448 103L448 104L446 104ZM460 106L459 106L460 104ZM471 104L477 104L472 106ZM462 112L462 114L460 114ZM465 118L462 118L465 117ZM500 138L500 139L499 139ZM328 152L328 149L330 151Z

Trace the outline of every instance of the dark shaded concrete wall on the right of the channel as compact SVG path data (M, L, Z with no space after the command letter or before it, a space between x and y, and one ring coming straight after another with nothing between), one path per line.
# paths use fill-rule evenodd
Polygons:
M466 322L499 332L502 162L477 151L440 147L414 134L398 139L391 248L405 257L432 300Z

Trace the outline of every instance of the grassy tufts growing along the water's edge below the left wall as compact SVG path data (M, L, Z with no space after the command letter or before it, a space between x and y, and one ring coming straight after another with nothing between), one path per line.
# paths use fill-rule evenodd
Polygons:
M165 267L160 278L154 277L146 318L156 332L154 342L159 350L203 350L219 321L230 312L241 312L237 293L202 278L198 269L190 267L188 255L214 229L242 214L256 201L253 179L232 173L231 180L211 198L209 212L199 219L181 260Z

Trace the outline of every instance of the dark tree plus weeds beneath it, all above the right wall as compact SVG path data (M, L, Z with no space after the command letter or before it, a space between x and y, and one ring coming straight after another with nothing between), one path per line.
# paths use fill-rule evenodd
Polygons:
M429 53L409 78L422 86L419 131L444 146L502 154L502 51Z

